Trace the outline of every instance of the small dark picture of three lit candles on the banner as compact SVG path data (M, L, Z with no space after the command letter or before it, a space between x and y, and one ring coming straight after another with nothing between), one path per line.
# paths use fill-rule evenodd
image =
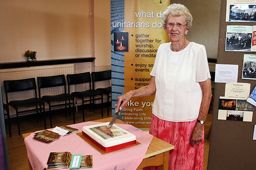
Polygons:
M114 32L114 52L128 52L128 32Z

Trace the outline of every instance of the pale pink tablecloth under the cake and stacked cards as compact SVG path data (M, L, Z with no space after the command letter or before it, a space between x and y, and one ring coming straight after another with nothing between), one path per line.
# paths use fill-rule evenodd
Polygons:
M83 122L70 127L82 131L82 127L98 124L100 122ZM153 138L152 135L128 124L116 124L118 127L136 135L136 141L142 145L136 145L127 149L110 152L102 155L81 139L76 133L61 136L52 143L44 143L33 139L34 133L25 138L25 145L28 152L28 160L33 170L43 170L47 167L47 160L50 152L71 152L72 154L92 155L93 170L136 170L143 160L148 146Z

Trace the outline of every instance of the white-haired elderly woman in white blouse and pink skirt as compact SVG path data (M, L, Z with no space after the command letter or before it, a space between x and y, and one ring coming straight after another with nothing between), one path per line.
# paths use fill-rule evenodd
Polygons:
M174 145L169 170L202 170L204 121L212 97L206 50L185 38L192 16L184 5L168 6L162 23L170 42L158 48L150 83L119 96L117 110L132 97L156 93L150 134Z

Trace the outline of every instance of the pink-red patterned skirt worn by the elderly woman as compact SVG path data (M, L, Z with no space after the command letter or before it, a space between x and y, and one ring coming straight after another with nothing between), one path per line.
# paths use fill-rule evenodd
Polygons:
M150 134L172 145L170 150L169 170L202 170L204 161L204 139L194 148L190 138L197 120L172 122L159 119L152 114ZM204 137L204 130L202 136ZM158 166L146 167L144 170L158 170Z

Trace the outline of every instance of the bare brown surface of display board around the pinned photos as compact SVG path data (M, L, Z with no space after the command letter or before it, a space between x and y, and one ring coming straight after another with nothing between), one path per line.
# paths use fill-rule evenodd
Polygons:
M256 55L255 52L225 51L227 25L255 25L255 22L226 22L226 0L221 0L220 31L217 64L238 64L238 82L250 83L252 89L255 80L242 79L244 54ZM213 25L214 26L214 25ZM215 83L212 129L208 170L255 170L256 140L252 140L255 111L252 122L218 120L218 99L225 96L225 83Z

